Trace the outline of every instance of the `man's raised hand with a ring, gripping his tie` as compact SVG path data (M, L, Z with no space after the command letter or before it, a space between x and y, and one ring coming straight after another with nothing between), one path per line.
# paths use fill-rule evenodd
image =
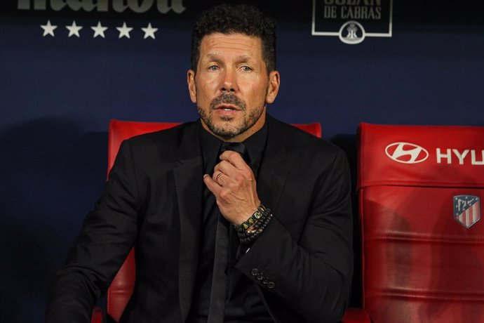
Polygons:
M241 154L227 150L220 155L213 176L203 176L208 190L215 195L222 216L239 225L247 220L260 205L252 169Z

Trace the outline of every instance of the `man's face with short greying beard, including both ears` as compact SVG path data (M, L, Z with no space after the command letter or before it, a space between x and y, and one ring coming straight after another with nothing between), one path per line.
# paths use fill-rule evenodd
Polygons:
M203 37L188 87L204 128L222 140L243 141L264 126L279 74L267 74L259 37L215 33Z

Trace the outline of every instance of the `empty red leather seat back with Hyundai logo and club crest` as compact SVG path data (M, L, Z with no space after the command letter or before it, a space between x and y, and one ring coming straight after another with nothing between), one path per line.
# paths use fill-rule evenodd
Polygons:
M373 322L484 322L484 127L361 124L363 307Z

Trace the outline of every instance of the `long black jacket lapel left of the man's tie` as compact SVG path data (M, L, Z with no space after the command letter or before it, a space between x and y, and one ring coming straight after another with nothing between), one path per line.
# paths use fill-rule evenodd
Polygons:
M180 165L173 169L180 210L179 291L183 321L187 318L199 261L203 162L199 122L187 126L179 150Z

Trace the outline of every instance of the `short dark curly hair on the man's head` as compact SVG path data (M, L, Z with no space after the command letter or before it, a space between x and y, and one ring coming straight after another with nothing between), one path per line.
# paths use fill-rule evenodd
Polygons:
M196 71L203 37L215 32L259 37L267 73L276 70L276 24L246 4L220 4L199 14L191 29L191 70Z

